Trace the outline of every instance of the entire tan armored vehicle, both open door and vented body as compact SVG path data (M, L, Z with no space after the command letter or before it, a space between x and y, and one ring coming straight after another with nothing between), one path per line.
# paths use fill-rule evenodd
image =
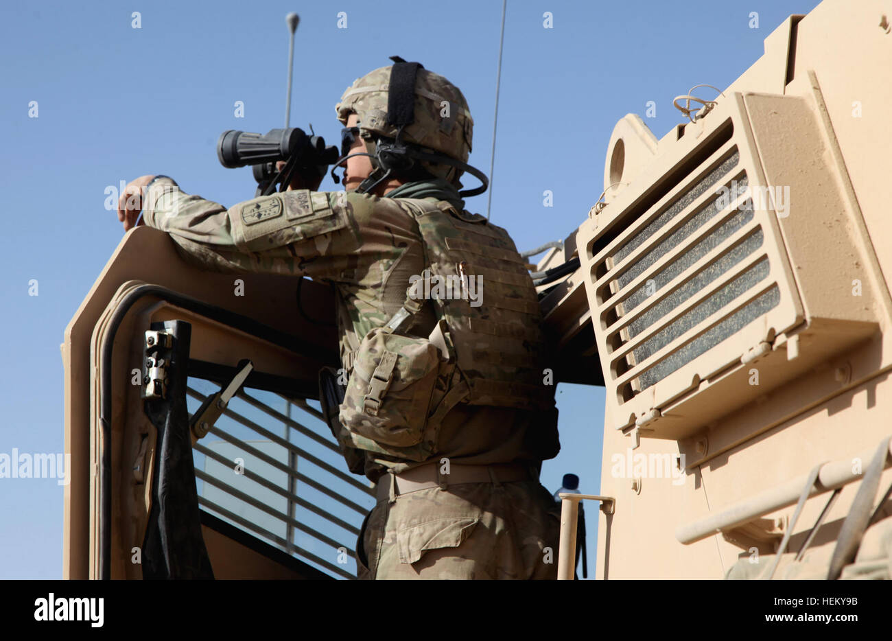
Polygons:
M598 578L889 577L889 11L825 0L661 139L618 121L538 265L558 371L607 390ZM330 296L121 240L62 345L66 578L355 575L374 498L316 400Z

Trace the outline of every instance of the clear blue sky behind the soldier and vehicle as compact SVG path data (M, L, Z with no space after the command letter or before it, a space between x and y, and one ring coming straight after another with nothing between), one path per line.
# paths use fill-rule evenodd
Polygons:
M663 137L681 122L673 96L700 83L727 87L781 21L816 4L508 0L492 221L521 251L567 237L604 188L617 120L644 117L654 101L645 122ZM283 126L291 11L301 16L292 126L312 123L336 144L343 90L399 54L461 87L475 118L470 162L489 172L500 0L4 3L0 453L63 451L62 332L122 233L104 209L105 188L164 173L227 206L253 197L250 169L221 167L215 145L225 129ZM338 187L326 178L321 188ZM553 207L543 206L545 190ZM486 198L467 208L485 212ZM597 494L604 389L561 385L558 407L563 449L544 463L542 483L554 491L575 472L580 489ZM591 577L598 512L589 514ZM0 479L0 578L61 577L62 487Z

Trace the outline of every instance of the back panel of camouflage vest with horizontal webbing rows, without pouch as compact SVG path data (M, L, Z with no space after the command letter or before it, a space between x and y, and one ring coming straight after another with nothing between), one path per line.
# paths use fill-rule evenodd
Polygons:
M416 205L431 280L469 281L464 296L434 298L445 319L458 369L467 378L468 404L548 409L553 387L543 384L541 312L526 262L508 232L455 215L445 201L407 199ZM482 221L483 217L475 216ZM449 290L447 290L448 292Z

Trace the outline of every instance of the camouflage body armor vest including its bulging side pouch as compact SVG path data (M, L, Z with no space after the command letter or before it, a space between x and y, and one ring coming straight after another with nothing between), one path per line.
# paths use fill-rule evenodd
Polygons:
M417 221L427 267L409 279L401 310L351 354L330 422L351 470L361 470L357 450L417 462L438 454L442 420L459 403L538 412L536 429L556 429L539 299L508 232L446 201L400 203ZM431 308L435 320L422 312ZM323 408L335 418L334 402Z

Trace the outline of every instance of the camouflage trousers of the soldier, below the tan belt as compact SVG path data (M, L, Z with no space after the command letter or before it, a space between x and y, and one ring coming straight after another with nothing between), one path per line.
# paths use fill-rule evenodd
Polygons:
M538 481L429 487L368 513L359 579L556 579L559 530Z

